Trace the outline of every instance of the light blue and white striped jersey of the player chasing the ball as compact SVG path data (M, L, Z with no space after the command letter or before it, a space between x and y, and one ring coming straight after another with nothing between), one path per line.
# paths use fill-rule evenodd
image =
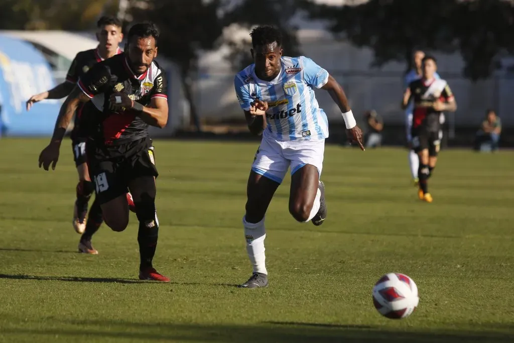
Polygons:
M320 140L328 137L328 120L320 109L314 88L328 82L328 71L304 56L282 57L279 75L271 81L260 80L251 64L234 78L235 93L241 108L250 110L258 98L267 101L268 127L264 135L280 141Z

